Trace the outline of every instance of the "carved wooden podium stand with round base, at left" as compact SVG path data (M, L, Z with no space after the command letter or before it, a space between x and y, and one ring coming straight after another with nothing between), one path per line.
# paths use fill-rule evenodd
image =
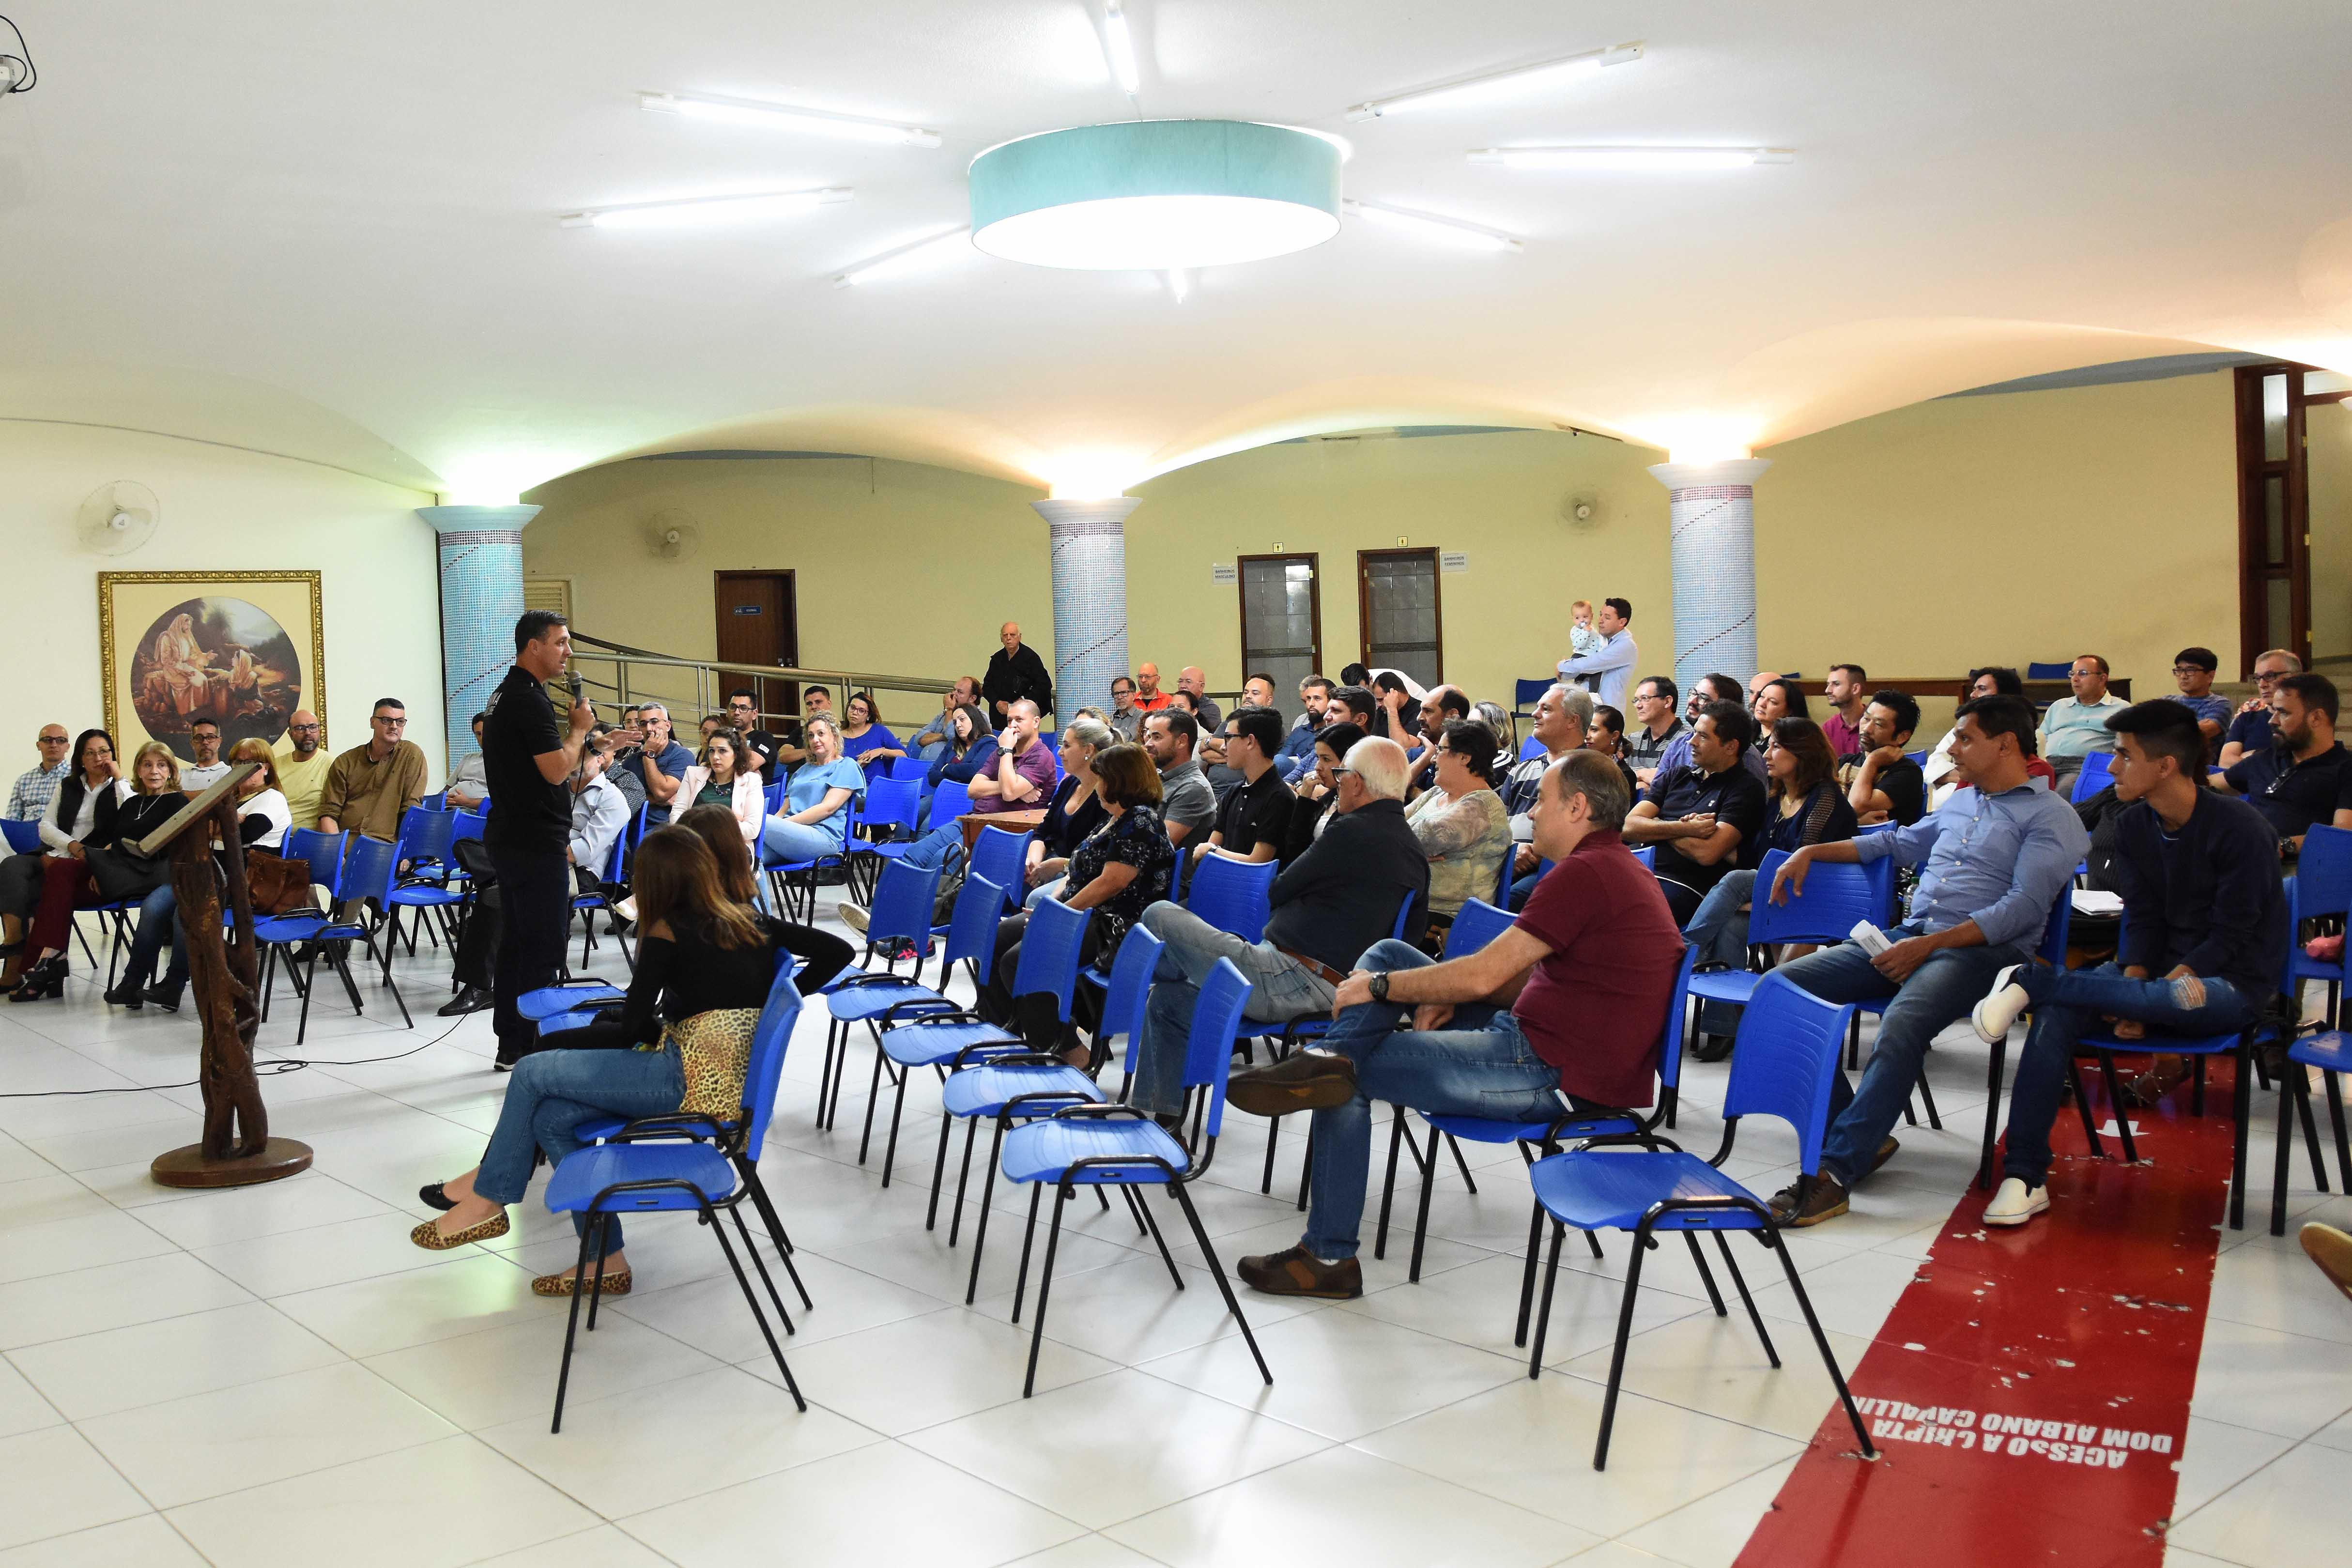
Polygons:
M158 1154L148 1173L165 1187L249 1187L310 1168L310 1145L270 1138L270 1114L254 1077L254 1030L261 1025L261 966L254 898L245 884L235 788L256 764L240 762L134 849L172 849L172 893L188 940L188 985L205 1027L198 1081L205 1091L205 1140ZM228 870L233 929L221 933L221 879L212 872L219 835Z

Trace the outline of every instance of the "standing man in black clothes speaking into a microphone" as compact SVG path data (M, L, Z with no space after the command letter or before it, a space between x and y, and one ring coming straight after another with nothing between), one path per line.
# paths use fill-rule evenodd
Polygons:
M515 668L489 693L482 717L482 773L489 823L482 849L499 879L503 931L494 976L499 1070L510 1070L539 1039L515 1004L553 985L564 959L572 919L572 771L595 724L595 710L572 686L569 733L555 722L546 682L572 658L572 630L546 609L515 621Z

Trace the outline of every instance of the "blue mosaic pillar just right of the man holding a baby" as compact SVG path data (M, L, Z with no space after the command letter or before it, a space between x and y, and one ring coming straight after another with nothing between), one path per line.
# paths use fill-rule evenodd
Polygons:
M1675 536L1675 684L1757 670L1757 498L1771 458L1658 463Z

